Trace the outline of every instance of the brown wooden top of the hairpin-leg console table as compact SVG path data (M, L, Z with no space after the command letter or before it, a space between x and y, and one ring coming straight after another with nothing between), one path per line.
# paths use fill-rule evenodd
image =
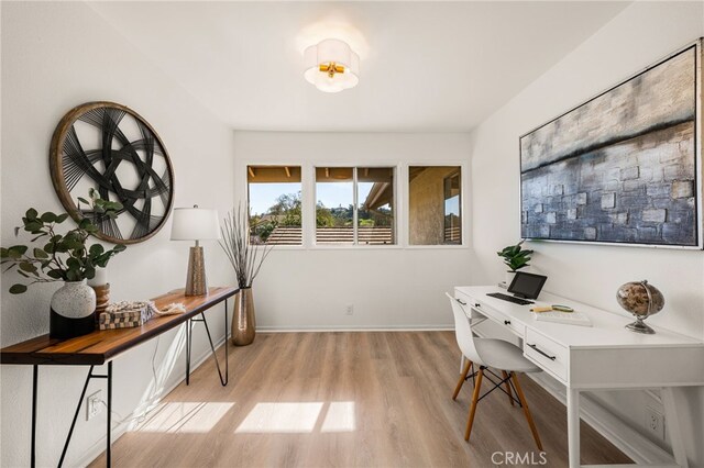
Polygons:
M237 294L238 288L209 288L207 296L184 296L183 289L154 298L157 308L182 302L186 312L154 316L133 328L97 330L70 339L50 338L48 334L0 349L0 364L23 365L102 365L141 343L153 338Z

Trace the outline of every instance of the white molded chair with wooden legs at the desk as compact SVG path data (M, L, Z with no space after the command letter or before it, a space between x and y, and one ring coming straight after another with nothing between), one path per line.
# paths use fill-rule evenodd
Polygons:
M520 389L520 383L518 383L518 376L516 375L516 372L539 372L540 368L526 359L520 348L513 343L508 343L503 339L479 338L474 336L474 334L472 333L471 321L465 313L465 304L460 302L459 299L454 299L447 292L446 294L448 296L448 298L450 298L450 304L452 304L452 313L454 314L454 334L458 339L458 345L460 346L460 350L462 352L464 357L468 359L462 370L462 375L460 376L460 380L458 381L458 385L454 389L452 400L457 399L458 393L460 393L460 389L462 388L462 383L464 383L464 381L470 377L473 378L476 376L476 380L474 382L474 392L472 393L472 404L470 405L470 414L466 421L466 430L464 432L464 439L470 439L470 434L472 433L472 424L474 423L474 414L476 412L476 403L482 398L498 388L508 394L509 401L513 405L513 387L516 395L518 397L518 403L524 409L526 420L528 421L528 425L530 426L530 432L532 432L532 438L536 441L538 449L542 450L542 444L540 443L538 430L536 428L536 424L532 421L530 410L528 409L528 403L526 402L526 397L524 397L524 392ZM470 368L473 368L474 365L480 366L480 369L476 372L473 371L472 375L468 377ZM494 376L497 379L498 376L488 368L502 370L503 379L501 379L501 381L498 382L494 381L491 376ZM482 379L484 377L491 380L494 383L494 387L482 397L480 397L480 389L482 387ZM502 386L505 386L506 390L504 390Z

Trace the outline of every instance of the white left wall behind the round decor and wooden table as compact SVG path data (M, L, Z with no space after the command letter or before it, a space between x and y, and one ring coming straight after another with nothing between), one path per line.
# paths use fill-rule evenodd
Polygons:
M153 67L89 7L78 2L2 2L2 245L29 207L59 211L48 172L54 127L74 105L112 100L131 107L160 133L175 170L175 205L199 203L224 213L232 201L233 132L180 87ZM152 239L130 246L109 266L111 298L142 300L185 283L188 243L169 241L170 221ZM211 285L233 282L216 244L206 243ZM2 276L1 344L48 331L48 302L58 283L10 296L15 278ZM222 308L209 313L221 339ZM179 328L180 330L180 328ZM196 325L194 357L202 356L205 333ZM158 348L157 348L158 345ZM114 361L116 424L153 401L184 375L183 335L173 331ZM155 386L152 358L160 375ZM101 369L99 369L101 370ZM28 466L31 367L1 366L1 466ZM38 403L38 466L56 465L87 368L42 367ZM217 378L217 376L212 376ZM103 382L91 383L94 389ZM105 390L103 390L105 395ZM86 422L81 413L67 466L85 461L105 433L103 413ZM95 449L92 450L95 454Z

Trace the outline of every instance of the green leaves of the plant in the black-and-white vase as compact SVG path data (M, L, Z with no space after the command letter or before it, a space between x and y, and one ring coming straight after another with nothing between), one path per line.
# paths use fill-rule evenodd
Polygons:
M110 219L116 219L122 210L121 203L98 198L94 189L90 189L88 194L90 201L78 198L79 210L84 203L91 207L94 213ZM67 219L66 213L56 214L47 211L40 215L34 208L26 211L22 218L23 225L14 229L15 235L23 229L34 236L30 243L42 242L44 245L32 249L29 245L0 247L0 264L9 265L3 272L15 269L30 281L26 285L12 285L11 293L21 294L28 290L28 286L35 282L91 279L97 267L105 268L110 258L127 248L124 245L116 245L111 249L106 249L100 244L86 246L88 237L98 232L98 226L88 218L80 220L77 227L65 234L57 234L56 226Z

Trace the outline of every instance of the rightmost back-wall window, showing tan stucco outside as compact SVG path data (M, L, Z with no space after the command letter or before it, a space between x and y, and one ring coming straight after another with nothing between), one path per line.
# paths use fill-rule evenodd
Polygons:
M411 245L462 244L461 168L408 168L408 239Z

